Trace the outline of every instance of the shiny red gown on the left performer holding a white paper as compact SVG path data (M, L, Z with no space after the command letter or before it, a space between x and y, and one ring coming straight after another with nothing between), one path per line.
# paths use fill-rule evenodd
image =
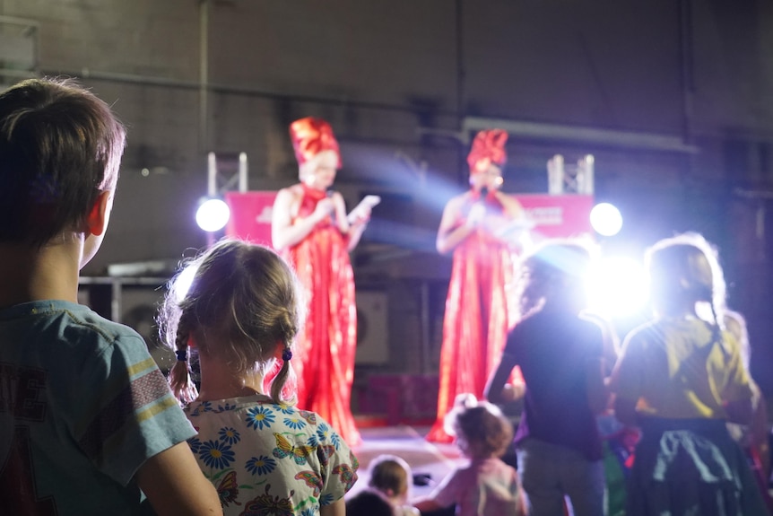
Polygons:
M304 188L299 217L314 212L324 191ZM360 444L352 416L352 379L357 346L357 307L348 240L328 220L318 223L285 258L304 285L308 314L292 367L298 377L298 407L322 415L350 446Z

